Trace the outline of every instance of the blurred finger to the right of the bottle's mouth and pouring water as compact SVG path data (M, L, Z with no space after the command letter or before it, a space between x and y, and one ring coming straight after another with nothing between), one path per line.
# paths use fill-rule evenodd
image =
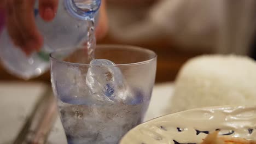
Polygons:
M100 8L100 17L98 20L98 26L96 27L96 38L102 39L108 32L108 17L106 10L106 1L102 1Z

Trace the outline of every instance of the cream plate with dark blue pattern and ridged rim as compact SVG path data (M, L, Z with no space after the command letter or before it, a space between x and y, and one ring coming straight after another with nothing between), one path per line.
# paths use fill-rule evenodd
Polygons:
M201 143L212 131L256 139L256 106L203 107L152 119L130 130L120 144Z

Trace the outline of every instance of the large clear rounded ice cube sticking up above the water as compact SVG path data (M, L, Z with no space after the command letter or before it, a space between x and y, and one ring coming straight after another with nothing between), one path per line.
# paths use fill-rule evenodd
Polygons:
M94 59L86 75L86 84L97 100L124 101L131 97L130 88L115 63L107 59Z

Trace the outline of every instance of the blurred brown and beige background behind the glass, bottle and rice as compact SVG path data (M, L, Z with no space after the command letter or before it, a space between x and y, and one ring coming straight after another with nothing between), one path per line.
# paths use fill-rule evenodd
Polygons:
M256 57L254 0L107 0L109 30L98 44L158 54L156 82L173 81L189 58L207 53ZM23 81L0 68L1 81ZM30 81L50 82L49 72Z

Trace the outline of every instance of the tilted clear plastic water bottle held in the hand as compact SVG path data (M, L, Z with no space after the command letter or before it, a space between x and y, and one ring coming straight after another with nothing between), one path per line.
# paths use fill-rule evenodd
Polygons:
M0 57L10 74L22 79L42 75L49 69L49 53L56 49L75 48L86 40L89 20L97 15L101 0L59 0L57 14L51 22L39 16L38 2L34 7L36 25L43 35L40 52L26 56L16 47L4 28L0 35Z

